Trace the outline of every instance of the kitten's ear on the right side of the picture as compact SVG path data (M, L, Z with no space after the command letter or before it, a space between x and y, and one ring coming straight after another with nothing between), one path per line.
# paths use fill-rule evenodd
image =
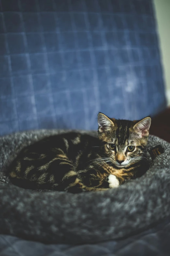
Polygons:
M151 124L151 118L146 117L140 120L139 122L137 122L133 128L135 132L139 135L139 137L142 138L149 135L150 124Z

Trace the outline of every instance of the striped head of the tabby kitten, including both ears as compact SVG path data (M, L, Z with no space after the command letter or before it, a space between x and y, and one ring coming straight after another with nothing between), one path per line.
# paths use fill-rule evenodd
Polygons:
M103 154L118 167L123 168L144 160L151 119L138 121L110 119L98 114L98 137L104 144Z

